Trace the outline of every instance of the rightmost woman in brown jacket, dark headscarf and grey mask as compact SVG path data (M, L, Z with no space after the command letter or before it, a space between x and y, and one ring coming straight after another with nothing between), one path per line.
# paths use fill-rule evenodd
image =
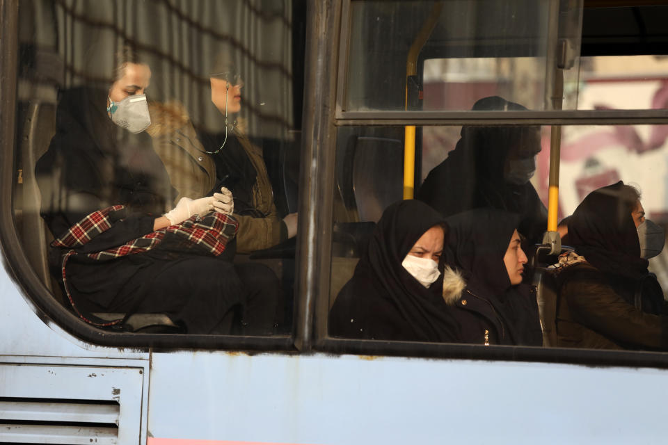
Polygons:
M664 234L644 218L639 192L619 181L589 193L568 238L575 252L555 265L558 346L668 349L663 292L647 270Z

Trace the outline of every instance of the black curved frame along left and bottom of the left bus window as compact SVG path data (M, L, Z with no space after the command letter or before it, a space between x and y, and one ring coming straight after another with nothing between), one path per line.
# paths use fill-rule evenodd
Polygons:
M307 10L307 23L313 22ZM101 330L82 321L56 301L29 264L17 235L13 212L13 183L15 182L15 113L17 106L19 3L0 0L0 250L3 266L21 290L23 298L35 314L50 325L56 323L65 332L97 346L149 350L211 349L249 350L294 353L293 334L261 336L230 336L202 334L154 334ZM308 32L308 31L307 31ZM301 192L300 192L301 193ZM302 199L303 201L303 199ZM299 280L299 270L297 272ZM297 294L299 295L299 294ZM296 303L297 304L297 303Z

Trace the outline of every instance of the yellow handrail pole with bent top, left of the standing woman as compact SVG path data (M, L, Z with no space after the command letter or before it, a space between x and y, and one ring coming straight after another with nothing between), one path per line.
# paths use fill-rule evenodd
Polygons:
M417 56L420 54L424 43L427 42L431 31L438 22L443 2L436 3L431 8L429 18L422 25L420 33L417 34L411 49L408 50L406 58L406 98L404 108L408 110L408 78L417 74ZM415 195L415 125L404 127L404 200L412 200Z

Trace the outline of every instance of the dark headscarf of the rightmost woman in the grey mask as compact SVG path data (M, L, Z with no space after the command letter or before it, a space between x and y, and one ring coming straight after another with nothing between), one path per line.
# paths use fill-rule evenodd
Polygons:
M568 220L569 242L589 264L606 273L639 279L649 262L640 257L631 212L637 194L622 181L589 193Z

